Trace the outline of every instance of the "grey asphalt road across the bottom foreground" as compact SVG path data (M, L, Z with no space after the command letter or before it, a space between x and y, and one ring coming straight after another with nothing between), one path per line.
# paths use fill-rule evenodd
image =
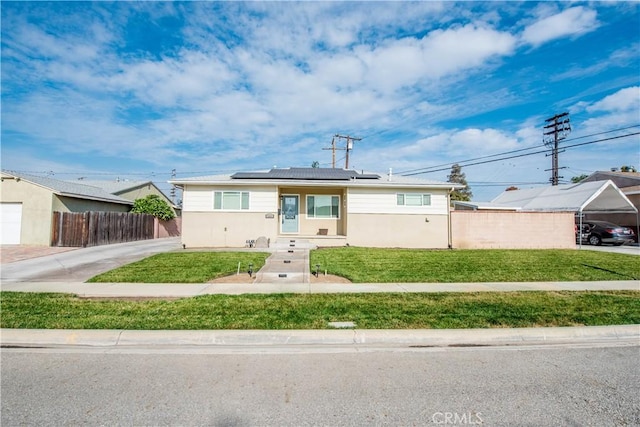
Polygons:
M640 347L4 349L2 425L640 425Z

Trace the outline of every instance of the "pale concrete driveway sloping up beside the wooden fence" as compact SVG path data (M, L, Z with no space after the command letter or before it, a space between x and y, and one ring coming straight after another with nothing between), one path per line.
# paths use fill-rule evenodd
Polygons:
M124 264L156 253L178 249L181 250L180 238L169 237L53 251L54 253L31 259L3 263L0 280L2 282L84 282L97 274Z

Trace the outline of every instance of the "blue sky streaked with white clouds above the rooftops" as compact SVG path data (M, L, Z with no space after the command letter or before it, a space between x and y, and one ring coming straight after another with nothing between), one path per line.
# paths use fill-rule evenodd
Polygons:
M172 169L330 167L339 133L355 169L460 162L488 201L547 185L550 157L514 156L565 111L561 147L640 131L639 2L2 2L3 169L168 191ZM640 137L559 163L640 168Z

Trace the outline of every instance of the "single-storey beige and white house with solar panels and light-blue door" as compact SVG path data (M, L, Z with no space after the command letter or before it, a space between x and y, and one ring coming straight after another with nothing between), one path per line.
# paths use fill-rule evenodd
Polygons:
M458 184L333 168L287 168L169 181L183 190L186 247L264 237L319 246L450 247Z

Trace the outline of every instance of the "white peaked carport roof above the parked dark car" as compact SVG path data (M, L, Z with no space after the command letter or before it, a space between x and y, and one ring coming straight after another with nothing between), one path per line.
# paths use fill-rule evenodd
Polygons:
M525 211L637 212L633 203L612 181L505 191L491 203L519 207Z

